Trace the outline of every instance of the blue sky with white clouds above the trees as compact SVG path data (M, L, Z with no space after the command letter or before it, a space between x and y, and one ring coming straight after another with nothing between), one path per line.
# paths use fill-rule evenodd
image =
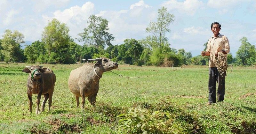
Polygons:
M0 0L0 39L10 29L22 33L25 41L41 40L44 27L53 18L67 24L72 38L79 38L77 34L95 14L108 20L109 33L115 37L111 43L120 45L127 38L140 40L151 35L146 28L156 22L162 6L175 19L166 34L172 48L199 55L213 35L212 22L221 24L220 33L228 37L233 56L242 37L256 45L256 0Z

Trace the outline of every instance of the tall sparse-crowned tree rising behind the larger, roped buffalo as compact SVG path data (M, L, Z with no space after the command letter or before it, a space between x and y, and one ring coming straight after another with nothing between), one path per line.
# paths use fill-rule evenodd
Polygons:
M93 45L95 48L105 48L109 46L110 41L114 41L113 34L108 33L108 20L100 16L91 15L88 19L89 26L84 28L83 33L78 33L81 36L78 41L85 41L85 44Z

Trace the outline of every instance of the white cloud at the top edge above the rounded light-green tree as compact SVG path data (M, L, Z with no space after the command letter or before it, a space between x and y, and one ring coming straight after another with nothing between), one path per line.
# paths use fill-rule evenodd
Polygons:
M43 11L46 10L48 7L62 7L68 4L69 0L36 0L35 1L35 11Z

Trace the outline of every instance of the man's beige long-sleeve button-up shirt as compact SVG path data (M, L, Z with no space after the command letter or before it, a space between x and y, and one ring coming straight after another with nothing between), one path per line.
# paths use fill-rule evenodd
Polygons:
M210 60L209 60L209 67L216 67L213 63L213 56L215 53L224 50L227 54L230 51L228 38L225 35L219 33L217 37L212 36L207 44L206 51L210 52ZM227 54L225 54L227 56ZM226 57L227 58L227 57Z

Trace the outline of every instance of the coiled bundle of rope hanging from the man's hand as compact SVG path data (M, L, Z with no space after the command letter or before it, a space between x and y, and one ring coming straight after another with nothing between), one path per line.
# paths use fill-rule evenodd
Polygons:
M218 52L218 56L215 56L213 58L213 63L216 65L220 75L222 78L225 78L227 76L227 58L222 52Z

